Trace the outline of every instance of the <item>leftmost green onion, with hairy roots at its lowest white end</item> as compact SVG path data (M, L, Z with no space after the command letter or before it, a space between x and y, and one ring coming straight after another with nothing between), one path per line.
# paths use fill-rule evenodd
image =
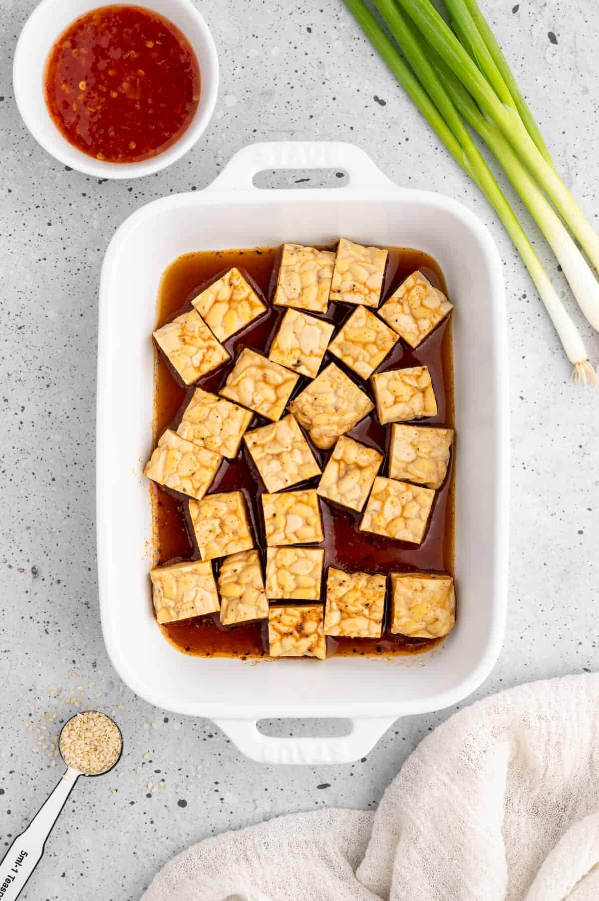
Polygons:
M405 20L404 15L399 11L393 0L375 0L375 2L395 41L404 50L405 56L412 64L414 71L420 77L422 85L427 88L429 94L416 82L412 72L404 64L395 45L386 36L386 33L369 12L363 0L344 0L349 11L356 17L370 41L372 41L389 68L394 72L400 84L404 86L414 104L418 106L431 124L433 130L437 132L451 155L465 169L467 174L476 181L478 187L485 193L489 203L495 208L548 310L549 316L567 352L567 357L574 366L574 377L585 384L587 381L593 382L594 369L588 362L585 347L576 330L576 325L567 314L545 269L540 263L540 259L533 250L531 242L524 233L522 225L518 222L485 160L477 150L476 144L470 137L469 132L467 132L466 126L441 84L435 69L432 68L431 63L422 52L421 45L415 38L412 27ZM436 109L435 106L432 106L431 100L434 101ZM472 105L474 106L474 104Z

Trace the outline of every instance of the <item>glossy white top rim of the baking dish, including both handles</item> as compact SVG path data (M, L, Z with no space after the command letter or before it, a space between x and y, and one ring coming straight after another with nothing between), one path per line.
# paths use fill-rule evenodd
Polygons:
M350 192L357 200L369 200L381 194L386 195L393 191L394 195L401 199L402 196L417 200L422 205L430 205L435 209L443 208L452 216L467 226L471 232L476 233L478 241L486 255L486 262L491 272L492 284L492 317L497 350L497 386L495 392L495 407L493 414L498 424L495 430L495 454L496 454L496 507L495 507L495 546L493 549L495 560L495 596L497 603L493 605L491 628L486 648L476 667L463 678L457 685L436 693L430 701L422 701L410 698L397 698L393 701L377 701L371 703L344 702L340 710L334 703L319 705L315 714L311 705L294 705L293 710L287 713L274 710L272 705L263 704L259 697L252 707L251 715L248 714L245 705L228 705L226 714L223 715L222 705L210 700L202 700L201 703L182 703L177 705L180 714L202 715L213 719L220 725L223 731L231 737L247 756L265 762L342 762L343 760L355 760L360 753L369 750L386 731L386 729L401 716L410 714L428 713L440 710L444 707L457 704L466 696L471 695L476 688L489 675L495 665L495 661L501 651L504 638L507 598L507 553L508 553L508 513L509 513L509 407L508 407L508 344L507 328L504 308L504 278L503 267L498 250L495 247L490 233L484 223L470 212L464 205L450 197L434 194L413 188L397 187L391 182L372 162L371 159L357 147L341 142L280 142L275 144L250 145L237 153L222 173L205 190L222 193L222 199L231 200L247 198L255 199L264 192L253 187L252 179L261 170L276 168L343 168L349 175L347 187L335 187L332 189L307 189L298 192L294 189L277 191L277 198L292 200L302 196L305 200L309 193L311 200L316 204L326 203L331 196L339 196L340 192ZM108 332L108 298L111 296L114 262L120 252L123 241L127 240L132 230L138 228L144 220L153 218L161 208L179 205L181 208L197 204L198 193L186 193L176 196L168 196L153 201L143 206L140 210L130 215L113 235L112 241L106 250L102 277L100 282L100 312L99 312L99 337L98 337L98 417L97 417L97 483L96 505L97 522L105 523L104 512L104 478L102 447L104 442L104 390L106 379L104 367L107 365L101 352ZM211 200L213 198L211 197ZM100 596L105 596L108 591L107 572L103 565L108 559L105 535L98 527L98 578ZM114 652L116 642L116 623L113 618L104 615L101 607L102 625L106 649L113 662L114 668L136 694L148 700L153 705L172 709L172 699L168 692L152 691L151 696L146 694L145 687L137 678L134 669L130 668L128 660ZM200 709L201 708L201 709ZM292 715L294 717L314 718L349 718L353 720L353 731L342 738L333 739L276 739L259 733L256 724L259 720L272 717ZM368 747L367 747L368 745ZM359 753L358 753L359 751Z

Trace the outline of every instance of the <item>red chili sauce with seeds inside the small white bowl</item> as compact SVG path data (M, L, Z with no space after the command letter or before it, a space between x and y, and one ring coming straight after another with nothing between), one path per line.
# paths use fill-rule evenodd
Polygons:
M140 6L102 6L50 51L46 103L59 132L113 163L155 157L191 123L200 69L182 32Z

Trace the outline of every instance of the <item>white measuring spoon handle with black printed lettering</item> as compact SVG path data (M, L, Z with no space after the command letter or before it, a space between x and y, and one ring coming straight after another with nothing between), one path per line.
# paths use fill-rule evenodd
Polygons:
M17 835L0 863L0 901L14 901L37 867L46 840L81 773L69 769L25 831Z

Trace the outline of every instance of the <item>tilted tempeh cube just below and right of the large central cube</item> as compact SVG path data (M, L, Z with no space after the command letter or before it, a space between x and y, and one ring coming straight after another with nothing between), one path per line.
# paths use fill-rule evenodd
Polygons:
M321 497L359 511L382 462L383 455L374 448L341 435L316 490Z

